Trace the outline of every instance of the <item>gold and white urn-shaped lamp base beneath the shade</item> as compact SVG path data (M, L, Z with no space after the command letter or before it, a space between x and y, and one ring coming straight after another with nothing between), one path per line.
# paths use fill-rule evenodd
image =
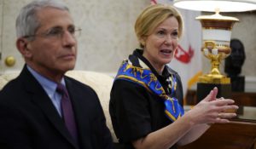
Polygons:
M199 78L200 83L229 84L230 78L219 71L221 60L230 55L230 37L233 25L238 19L218 14L201 15L196 18L201 21L203 45L201 48L209 60L212 70Z

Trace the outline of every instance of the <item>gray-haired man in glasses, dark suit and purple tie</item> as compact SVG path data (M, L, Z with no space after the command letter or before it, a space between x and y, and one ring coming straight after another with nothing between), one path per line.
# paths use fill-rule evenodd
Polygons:
M75 66L80 32L67 7L54 0L29 3L16 32L26 65L0 91L0 148L112 148L96 92L64 76Z

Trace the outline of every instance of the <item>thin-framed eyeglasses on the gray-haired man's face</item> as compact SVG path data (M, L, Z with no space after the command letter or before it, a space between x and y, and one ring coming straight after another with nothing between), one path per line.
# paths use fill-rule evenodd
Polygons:
M70 35L73 37L79 37L81 35L81 28L75 28L75 27L69 27L67 29L67 32L69 32ZM52 39L60 39L64 36L66 31L64 31L61 27L53 27L50 28L48 31L43 32L43 33L38 33L34 35L27 35L24 37L47 37L47 38L52 38Z

